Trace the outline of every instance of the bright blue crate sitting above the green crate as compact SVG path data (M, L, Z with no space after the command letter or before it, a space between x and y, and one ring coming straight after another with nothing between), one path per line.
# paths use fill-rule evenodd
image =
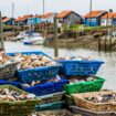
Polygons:
M62 66L60 73L63 75L95 75L103 61L77 61L77 60L60 60Z

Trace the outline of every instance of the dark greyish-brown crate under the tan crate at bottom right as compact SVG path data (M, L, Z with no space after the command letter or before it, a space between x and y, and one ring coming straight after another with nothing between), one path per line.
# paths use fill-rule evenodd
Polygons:
M81 116L116 116L115 112L93 112L77 106L70 106L73 114L81 114Z

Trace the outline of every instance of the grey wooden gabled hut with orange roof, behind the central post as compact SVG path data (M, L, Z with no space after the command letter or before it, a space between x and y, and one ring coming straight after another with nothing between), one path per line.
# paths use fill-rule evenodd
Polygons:
M82 22L82 17L74 11L62 11L57 15L59 24L63 25L71 25L75 23Z

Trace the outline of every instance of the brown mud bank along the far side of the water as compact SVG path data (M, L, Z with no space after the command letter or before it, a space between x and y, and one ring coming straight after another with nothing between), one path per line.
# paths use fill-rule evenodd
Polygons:
M83 48L83 49L91 49L91 50L101 50L101 51L116 51L116 41L107 40L105 43L105 36L101 39L95 39L92 35L80 36L77 39L57 39L57 43L60 48ZM45 46L54 46L54 40L46 40L44 43Z

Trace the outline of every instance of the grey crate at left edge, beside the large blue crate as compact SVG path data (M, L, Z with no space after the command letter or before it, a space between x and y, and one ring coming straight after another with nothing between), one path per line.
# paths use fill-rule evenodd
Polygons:
M1 80L10 80L14 77L17 71L18 62L12 62L4 66L0 66L0 78Z

